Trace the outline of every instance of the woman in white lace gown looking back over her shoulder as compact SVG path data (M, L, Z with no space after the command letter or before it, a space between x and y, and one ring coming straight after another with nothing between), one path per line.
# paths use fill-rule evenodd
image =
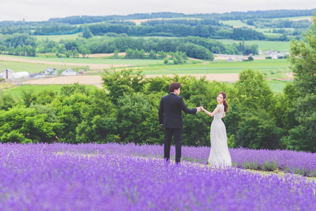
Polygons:
M201 109L206 114L214 116L210 130L211 151L208 160L208 164L211 164L214 168L227 168L232 165L232 159L227 146L226 127L222 121L222 118L225 117L225 113L228 111L226 98L227 95L225 92L218 93L218 105L213 112L209 112L201 106Z

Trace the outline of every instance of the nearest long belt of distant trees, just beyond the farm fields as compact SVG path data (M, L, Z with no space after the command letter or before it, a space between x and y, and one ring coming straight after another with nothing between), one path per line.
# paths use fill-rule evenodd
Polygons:
M88 55L91 53L114 53L116 50L119 52L126 52L128 49L135 51L137 49L143 50L144 53L152 51L154 54L160 51L178 51L191 58L206 60L212 60L213 53L240 54L243 52L245 55L258 53L257 45L245 46L244 42L240 42L240 45L236 43L225 45L216 40L192 36L173 39L155 37L144 39L131 38L116 33L109 35L111 37L78 38L76 40L61 40L59 43L48 39L37 40L26 33L0 34L0 53L26 56L35 56L36 53L56 53L60 57L78 57L79 53Z

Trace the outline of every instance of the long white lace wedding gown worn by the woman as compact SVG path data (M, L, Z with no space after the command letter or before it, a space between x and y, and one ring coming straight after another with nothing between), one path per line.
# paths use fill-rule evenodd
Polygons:
M220 111L214 115L214 119L211 124L211 151L208 162L212 165L213 168L225 169L232 166L232 158L230 157L227 146L226 127L224 125L224 122L222 121L224 106L217 106L220 107Z

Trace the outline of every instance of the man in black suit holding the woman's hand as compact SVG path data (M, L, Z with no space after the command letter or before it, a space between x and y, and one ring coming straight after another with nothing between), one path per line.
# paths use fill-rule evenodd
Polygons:
M201 111L200 107L196 109L188 109L186 107L183 98L178 96L180 94L180 87L181 84L178 82L170 84L170 94L161 97L158 110L159 124L165 129L164 158L166 158L166 161L170 160L170 146L173 136L177 163L179 163L181 159L182 111L186 114L197 114L197 112Z

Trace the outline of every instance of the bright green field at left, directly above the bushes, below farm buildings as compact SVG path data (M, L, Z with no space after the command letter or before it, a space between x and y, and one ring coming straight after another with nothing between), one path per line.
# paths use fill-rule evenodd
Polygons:
M28 84L23 84L21 86L16 86L14 88L11 89L7 89L7 90L3 90L4 93L11 93L11 95L13 96L17 96L20 97L22 95L22 90L33 90L34 92L38 92L40 90L44 90L44 89L52 89L53 91L57 92L58 94L60 94L60 90L61 87L63 85L28 85ZM93 89L98 89L96 86L94 85L85 85L88 89L93 90Z

